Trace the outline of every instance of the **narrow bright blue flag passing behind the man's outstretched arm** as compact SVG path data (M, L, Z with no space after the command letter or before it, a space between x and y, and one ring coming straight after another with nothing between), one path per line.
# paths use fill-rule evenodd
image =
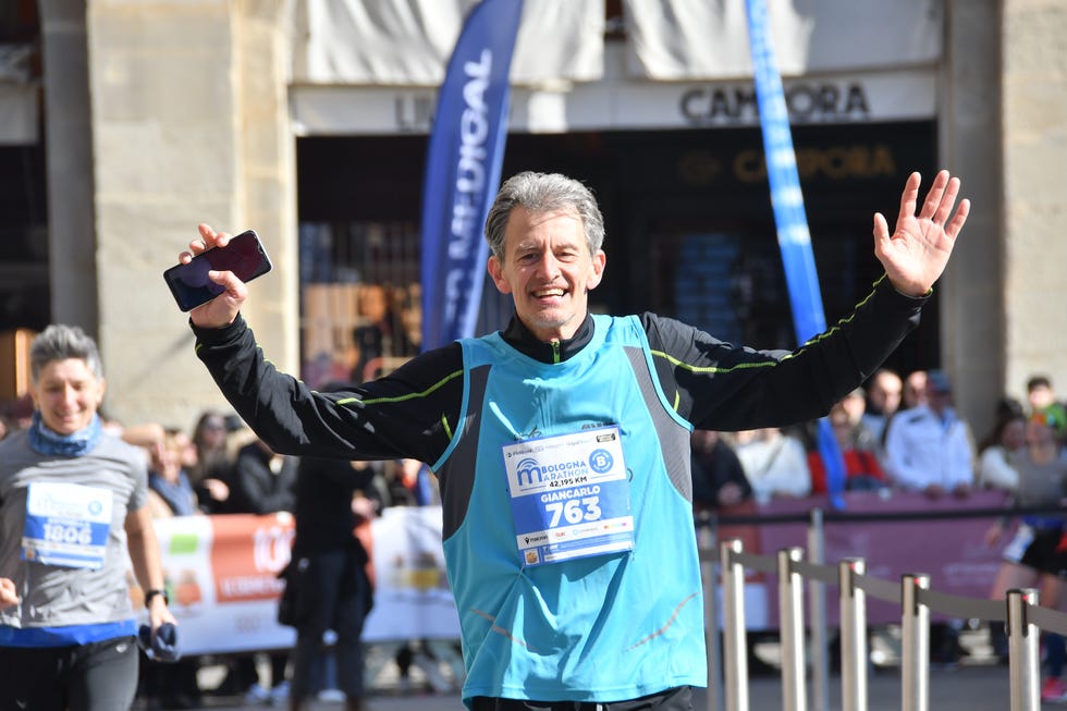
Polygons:
M793 308L797 342L826 330L826 316L819 291L819 274L811 252L811 234L804 211L804 195L797 173L797 156L789 130L789 112L782 89L774 46L766 17L765 0L747 0L748 41L756 75L756 98L763 132L766 176L771 184L771 205L778 233L778 248ZM845 458L827 418L819 420L819 454L826 468L826 489L835 506L844 506Z

